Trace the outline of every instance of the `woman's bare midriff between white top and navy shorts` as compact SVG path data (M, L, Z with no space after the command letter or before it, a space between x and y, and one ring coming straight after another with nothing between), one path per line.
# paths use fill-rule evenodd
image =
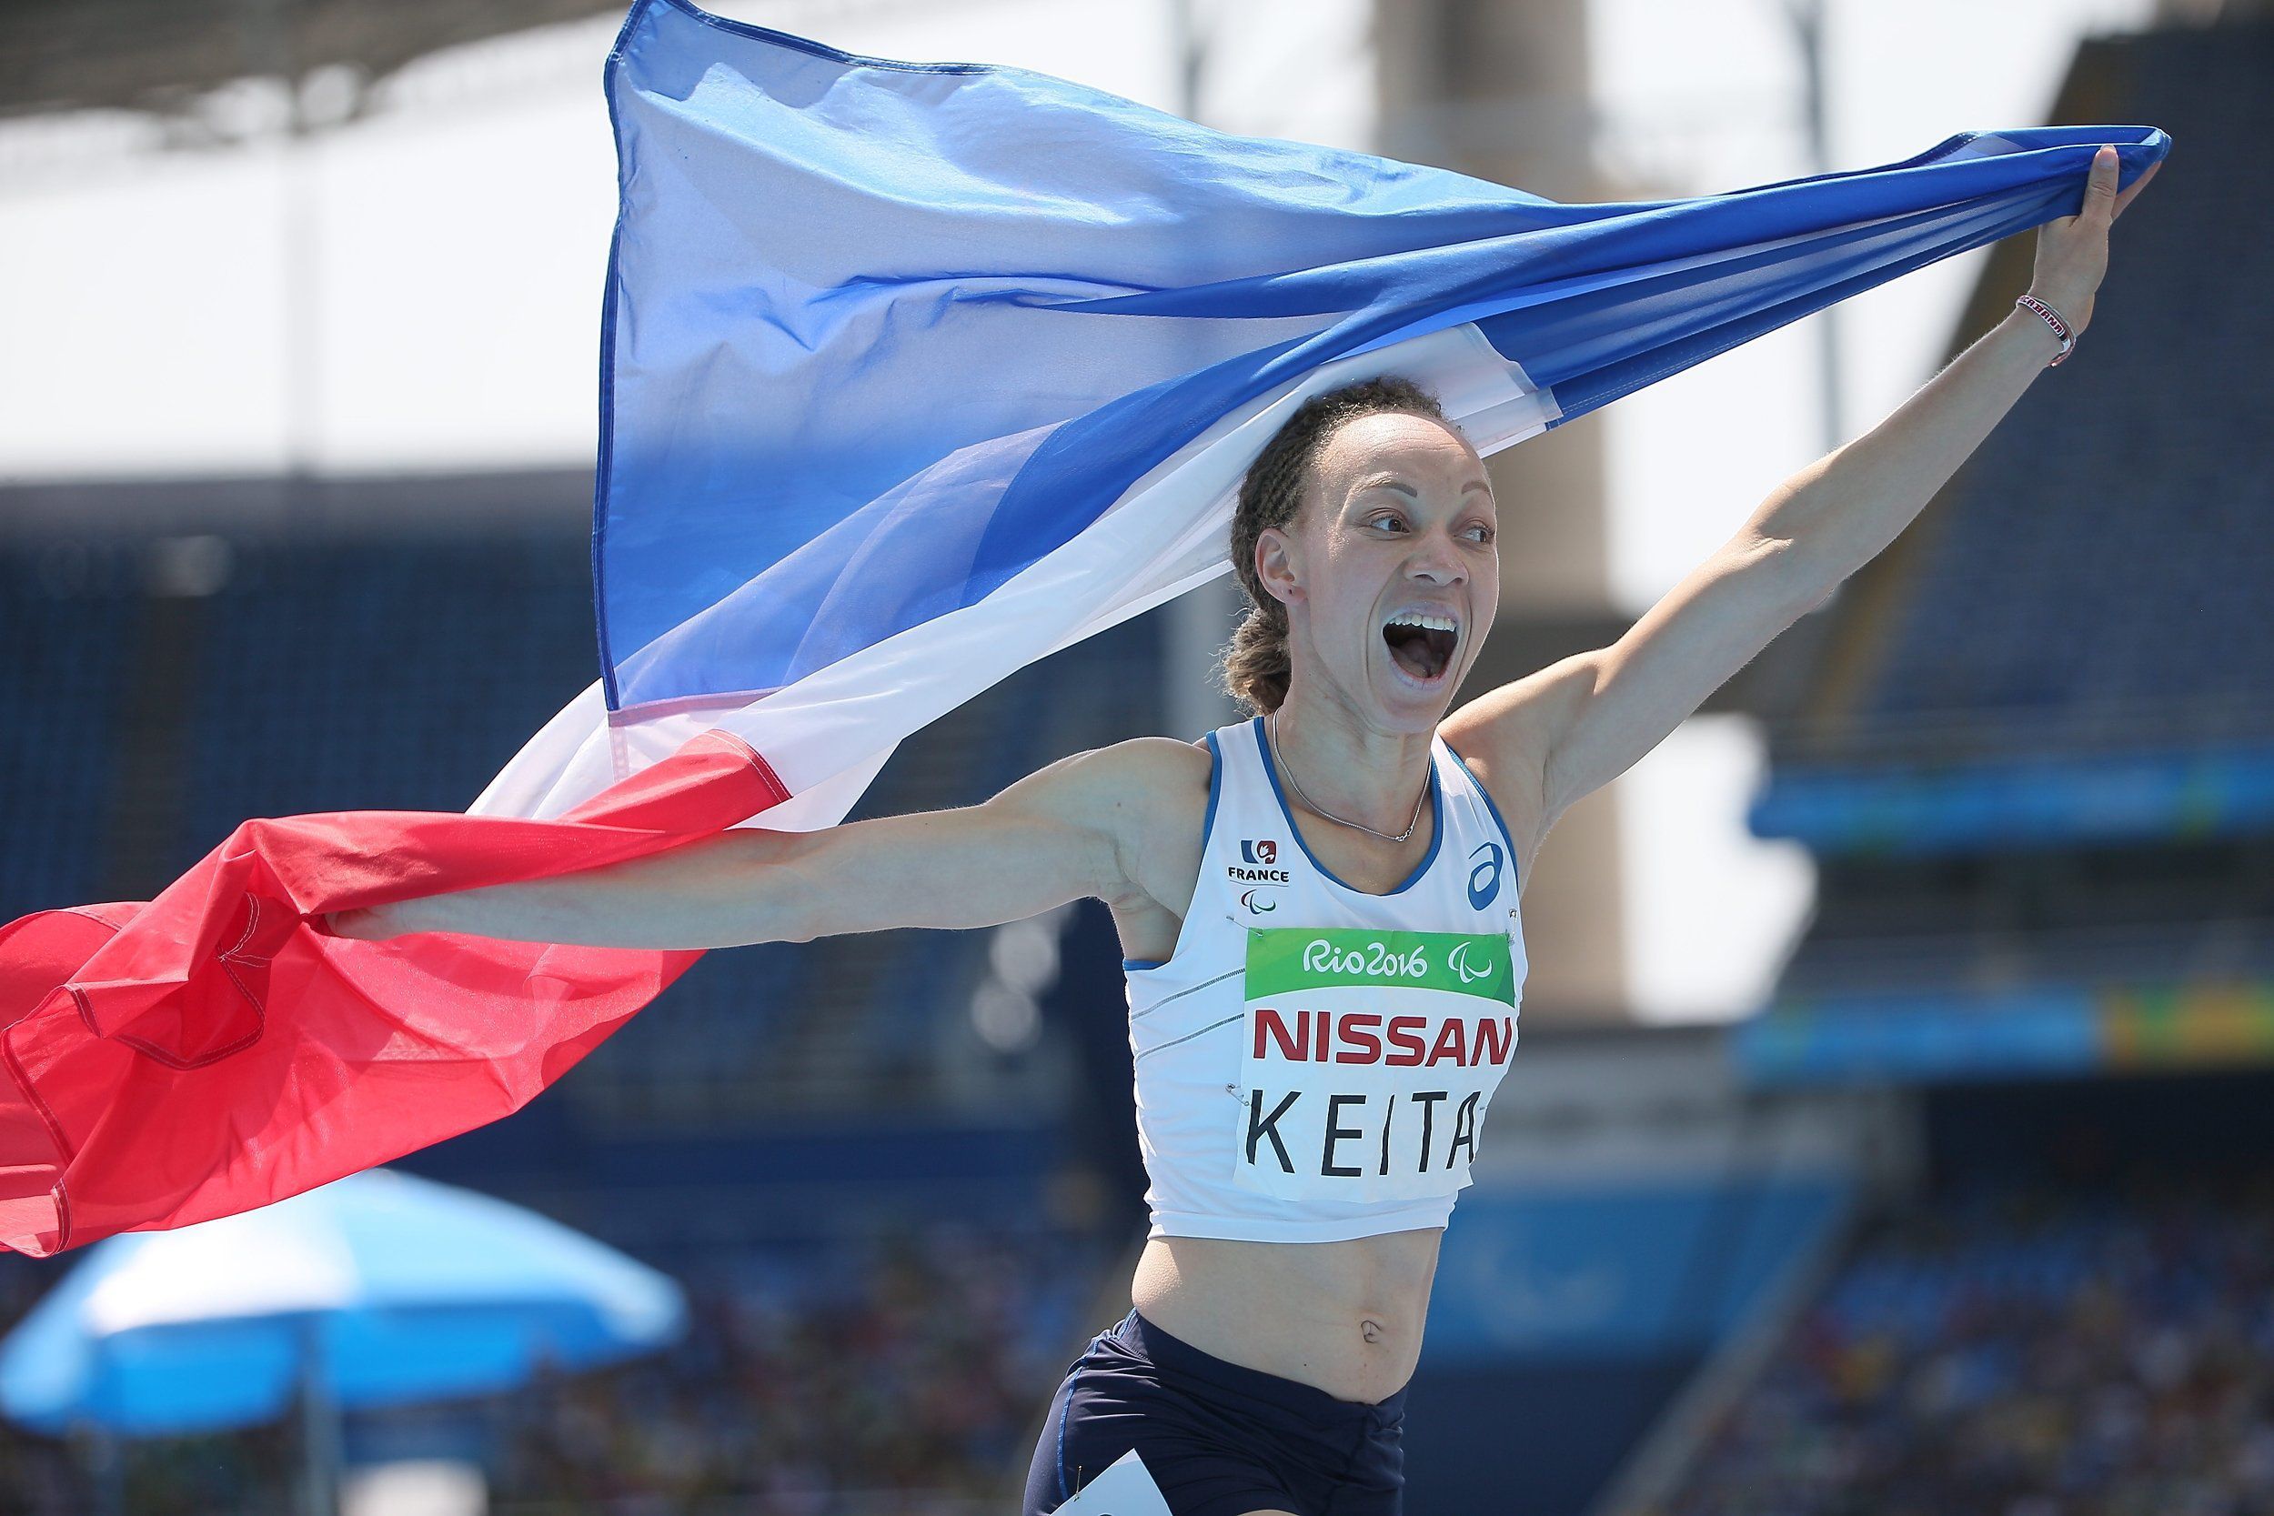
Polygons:
M1376 1405L1421 1359L1442 1239L1444 1227L1342 1243L1151 1236L1130 1302L1201 1352Z

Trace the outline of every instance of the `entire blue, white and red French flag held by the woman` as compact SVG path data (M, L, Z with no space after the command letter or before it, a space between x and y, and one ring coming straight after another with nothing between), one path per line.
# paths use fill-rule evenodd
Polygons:
M1223 573L1246 464L1376 373L1496 452L2078 211L2153 127L1558 205L1080 84L637 0L603 70L598 680L464 814L239 825L157 900L0 927L0 1246L300 1193L496 1121L694 950L323 911L825 827L894 745Z

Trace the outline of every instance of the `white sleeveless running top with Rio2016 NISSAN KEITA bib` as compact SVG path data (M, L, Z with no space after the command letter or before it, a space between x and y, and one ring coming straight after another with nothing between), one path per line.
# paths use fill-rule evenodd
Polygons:
M1369 896L1310 855L1267 743L1260 716L1207 734L1192 909L1167 961L1123 959L1148 1234L1442 1227L1517 1048L1508 827L1433 736L1428 855Z

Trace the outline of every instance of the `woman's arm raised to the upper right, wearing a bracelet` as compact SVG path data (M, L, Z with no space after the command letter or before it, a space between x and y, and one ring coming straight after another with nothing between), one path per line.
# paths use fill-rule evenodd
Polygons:
M2076 332L2108 268L2108 225L2153 173L2119 198L2117 155L2103 148L2081 211L2038 234L2031 293ZM2042 316L2008 311L1883 423L1778 484L1617 643L1478 695L1446 720L1446 741L1474 745L1494 773L1537 775L1539 793L1524 798L1537 841L1892 543L2056 352Z

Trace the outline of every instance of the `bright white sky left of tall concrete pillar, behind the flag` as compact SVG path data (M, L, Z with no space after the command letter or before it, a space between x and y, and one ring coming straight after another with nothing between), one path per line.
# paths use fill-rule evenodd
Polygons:
M1167 0L719 5L885 57L1016 64L1176 107ZM1207 7L1203 5L1203 20ZM209 102L211 150L125 114L0 125L0 480L266 473L287 459L289 309L309 309L318 470L580 466L596 448L621 11L423 59L375 118L275 141L280 84ZM1244 2L1203 118L1362 145L1362 0ZM298 209L293 209L298 207ZM302 239L305 295L287 248Z

